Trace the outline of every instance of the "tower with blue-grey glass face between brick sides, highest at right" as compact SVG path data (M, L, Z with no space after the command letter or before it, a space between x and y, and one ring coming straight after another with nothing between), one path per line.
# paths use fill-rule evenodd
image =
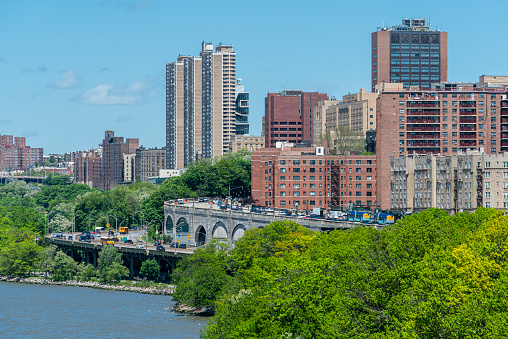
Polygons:
M382 82L430 88L448 78L448 33L431 31L425 19L372 33L372 92Z

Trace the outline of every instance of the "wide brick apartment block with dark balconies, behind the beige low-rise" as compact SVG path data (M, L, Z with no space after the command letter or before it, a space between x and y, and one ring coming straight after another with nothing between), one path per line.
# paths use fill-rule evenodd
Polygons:
M508 151L508 86L443 83L382 91L377 99L377 198L390 208L390 156ZM506 78L506 77L505 77ZM508 80L508 78L507 78Z

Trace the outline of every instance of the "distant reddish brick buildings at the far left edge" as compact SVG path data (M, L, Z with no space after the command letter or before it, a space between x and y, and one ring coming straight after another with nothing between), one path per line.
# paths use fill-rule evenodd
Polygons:
M26 146L25 137L13 138L12 135L0 135L0 170L28 170L36 164L42 164L43 149Z

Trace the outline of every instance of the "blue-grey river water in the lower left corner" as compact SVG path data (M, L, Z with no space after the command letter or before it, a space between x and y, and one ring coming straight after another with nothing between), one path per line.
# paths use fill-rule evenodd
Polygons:
M208 318L171 297L0 282L0 338L199 338Z

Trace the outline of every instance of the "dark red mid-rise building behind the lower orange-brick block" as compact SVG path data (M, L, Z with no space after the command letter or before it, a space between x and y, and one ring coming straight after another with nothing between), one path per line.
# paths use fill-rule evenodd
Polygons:
M328 95L288 89L268 93L263 126L265 147L275 147L279 141L297 144L312 140L313 110L321 100L328 100Z

